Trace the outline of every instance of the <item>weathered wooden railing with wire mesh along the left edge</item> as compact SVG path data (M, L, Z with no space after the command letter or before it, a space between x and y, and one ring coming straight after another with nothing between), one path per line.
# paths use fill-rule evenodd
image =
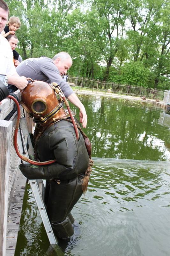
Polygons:
M20 92L16 92L20 97ZM21 159L13 146L13 135L17 119L16 112L10 120L4 120L14 108L14 102L4 99L0 106L0 255L6 255L7 215L18 176Z

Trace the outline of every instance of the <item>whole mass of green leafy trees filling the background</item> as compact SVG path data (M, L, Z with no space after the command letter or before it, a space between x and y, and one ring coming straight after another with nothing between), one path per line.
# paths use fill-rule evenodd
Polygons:
M168 0L7 0L23 59L69 52L70 75L169 89ZM105 63L105 67L103 67Z

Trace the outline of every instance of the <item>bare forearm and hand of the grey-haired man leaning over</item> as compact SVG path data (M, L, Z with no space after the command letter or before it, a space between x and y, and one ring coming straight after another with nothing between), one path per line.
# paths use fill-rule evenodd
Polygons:
M70 100L71 103L73 103L76 107L80 109L80 123L82 123L83 128L85 128L87 125L87 114L84 105L81 103L81 101L78 99L77 95L74 92L68 97L68 100Z

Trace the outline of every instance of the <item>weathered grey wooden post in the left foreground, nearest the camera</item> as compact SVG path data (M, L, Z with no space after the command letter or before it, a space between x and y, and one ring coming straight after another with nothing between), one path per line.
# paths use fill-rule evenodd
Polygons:
M8 179L12 121L0 120L0 255L6 255L6 232L8 216Z

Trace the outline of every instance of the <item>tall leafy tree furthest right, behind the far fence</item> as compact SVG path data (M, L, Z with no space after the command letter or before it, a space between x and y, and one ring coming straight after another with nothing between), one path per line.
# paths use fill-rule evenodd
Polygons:
M169 1L130 1L129 20L132 29L127 31L130 59L142 61L155 78L152 86L158 87L169 76ZM133 57L133 58L132 58Z

